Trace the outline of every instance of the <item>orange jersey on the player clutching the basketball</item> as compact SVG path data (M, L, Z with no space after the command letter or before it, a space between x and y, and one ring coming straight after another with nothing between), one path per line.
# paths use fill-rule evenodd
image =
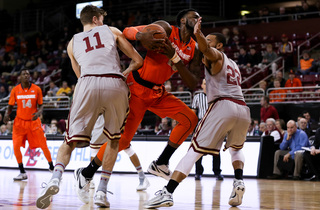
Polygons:
M187 65L193 59L196 42L190 38L187 43L183 43L180 39L180 29L175 26L171 27L172 32L169 40L177 54L180 56L182 62ZM155 84L163 84L165 81L170 79L171 75L176 71L173 63L167 56L148 50L143 66L138 70L138 72L140 77L144 80ZM128 84L132 80L132 74L130 74L127 80Z

